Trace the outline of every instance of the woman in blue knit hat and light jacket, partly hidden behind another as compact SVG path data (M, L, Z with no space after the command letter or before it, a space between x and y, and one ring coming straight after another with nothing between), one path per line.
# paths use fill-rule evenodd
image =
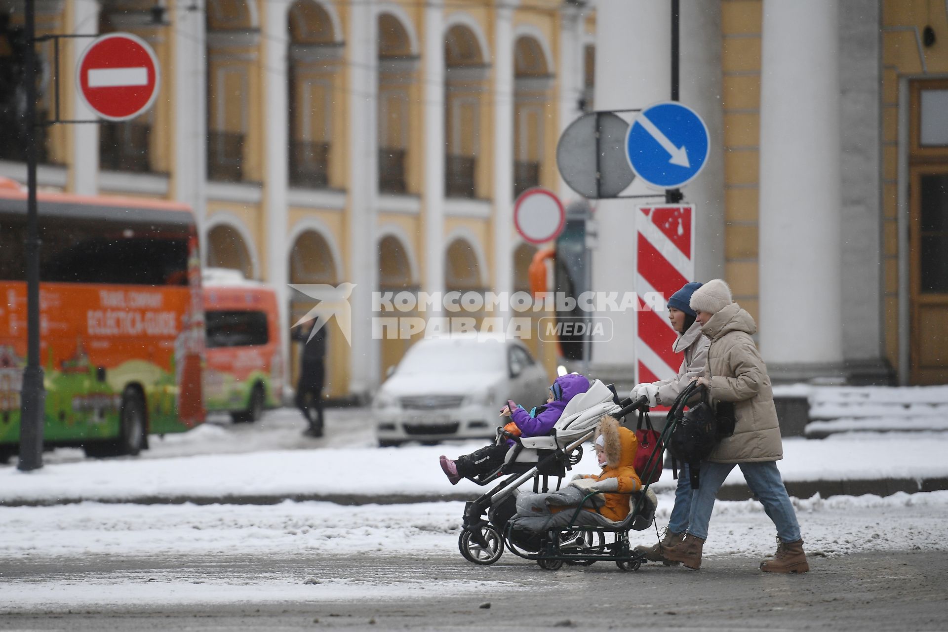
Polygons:
M708 347L711 341L702 334L701 323L695 321L695 311L691 309L691 295L702 286L699 282L685 283L684 287L668 298L668 320L672 328L678 333L678 339L671 346L676 353L684 353L684 361L678 374L667 380L658 382L644 382L632 388L633 400L646 396L648 406L671 406L682 392L696 378L704 374L704 364L707 362ZM684 538L688 531L688 514L691 509L691 476L685 464L678 475L678 489L675 492L675 507L671 510L668 526L662 536L660 544L651 547L636 547L645 553L652 562L677 564L665 559L660 545L670 547Z

